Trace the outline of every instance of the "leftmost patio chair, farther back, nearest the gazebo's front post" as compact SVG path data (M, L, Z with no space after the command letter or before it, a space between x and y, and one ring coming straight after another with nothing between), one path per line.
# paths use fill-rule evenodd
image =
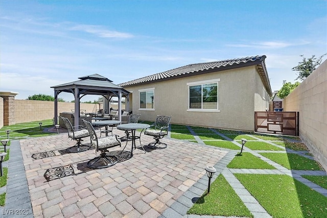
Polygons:
M86 128L81 128L82 126L74 126L69 121L68 118L60 116L60 118L63 120L67 131L68 131L68 138L71 138L72 140L76 141L75 146L71 148L67 148L66 152L69 153L76 153L76 152L83 152L86 150L89 150L89 146L86 146L85 144L82 144L81 141L83 141L83 138L88 137L89 133Z

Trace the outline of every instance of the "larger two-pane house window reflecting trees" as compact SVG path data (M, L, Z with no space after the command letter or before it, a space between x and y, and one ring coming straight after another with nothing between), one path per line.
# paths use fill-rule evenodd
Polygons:
M189 111L219 111L218 82L220 79L188 83Z

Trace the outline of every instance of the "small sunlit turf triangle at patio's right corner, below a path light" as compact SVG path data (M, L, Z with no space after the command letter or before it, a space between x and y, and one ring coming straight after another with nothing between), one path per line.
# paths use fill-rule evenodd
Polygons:
M242 153L242 156L235 156L227 167L239 169L275 169L274 166L248 152Z

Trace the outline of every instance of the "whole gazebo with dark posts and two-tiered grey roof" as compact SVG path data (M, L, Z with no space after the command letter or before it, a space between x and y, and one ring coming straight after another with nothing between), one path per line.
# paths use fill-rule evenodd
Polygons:
M85 77L79 77L78 81L65 83L61 85L51 86L55 90L55 124L58 124L58 95L61 92L72 93L75 96L75 112L74 112L74 126L79 125L80 116L80 99L87 95L102 95L108 103L108 108L110 100L112 97L118 98L118 111L119 119L122 120L122 98L126 98L126 110L128 110L128 96L129 92L122 87L115 85L111 80L105 78L99 74L93 74Z

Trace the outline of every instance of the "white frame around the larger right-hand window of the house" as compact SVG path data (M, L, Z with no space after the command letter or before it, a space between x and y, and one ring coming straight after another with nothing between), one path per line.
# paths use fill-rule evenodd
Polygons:
M219 91L218 91L218 86L220 79L213 79L213 80L203 80L203 81L197 81L197 82L190 82L186 83L188 86L188 109L186 111L190 112L220 112L219 110ZM203 85L206 84L211 84L211 83L217 83L217 109L203 109ZM201 85L201 109L200 108L190 108L190 87L191 86L196 86L196 85Z

